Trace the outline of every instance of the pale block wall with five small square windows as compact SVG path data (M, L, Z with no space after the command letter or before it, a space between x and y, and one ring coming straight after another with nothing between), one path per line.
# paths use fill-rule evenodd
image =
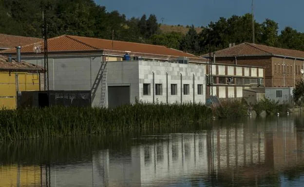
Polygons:
M154 95L154 102L193 102L193 86L194 86L194 102L205 103L206 99L206 66L191 64L175 64L162 62L139 61L139 98L143 102L153 102L153 72L154 84L162 84L162 94ZM168 87L167 74L168 73ZM193 85L194 74L194 85ZM182 75L182 85L181 85ZM143 95L143 84L150 84L150 95ZM177 85L177 95L171 95L171 84ZM189 84L190 93L184 95L184 85ZM198 95L197 86L203 85L203 94ZM182 88L182 89L181 89ZM182 96L182 97L181 97Z

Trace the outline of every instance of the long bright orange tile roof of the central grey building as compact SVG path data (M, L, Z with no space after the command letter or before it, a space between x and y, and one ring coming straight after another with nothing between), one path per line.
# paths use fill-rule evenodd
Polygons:
M41 52L43 53L43 41L22 46L21 52L34 52L35 46L42 46ZM149 56L149 57L160 57L160 58L171 58L174 59L178 56L186 56L197 61L206 61L206 59L196 56L190 53L183 51L178 51L175 49L167 48L165 46L142 44L142 43L133 43L133 42L124 42L124 41L112 41L99 38L90 38L90 37L81 37L73 35L61 35L54 38L48 39L48 51L49 52L77 52L77 51L106 51L108 54L123 55L126 51L131 51L131 53L138 56ZM14 53L15 49L9 49L1 51L2 53Z

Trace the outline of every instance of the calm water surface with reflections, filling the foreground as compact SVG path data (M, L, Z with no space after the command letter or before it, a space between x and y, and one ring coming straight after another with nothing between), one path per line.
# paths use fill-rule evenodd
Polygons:
M303 187L304 118L0 144L0 187Z

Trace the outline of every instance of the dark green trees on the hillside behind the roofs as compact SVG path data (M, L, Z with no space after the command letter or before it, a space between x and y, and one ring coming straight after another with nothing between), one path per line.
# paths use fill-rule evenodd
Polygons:
M252 42L252 15L220 17L197 33L164 33L155 15L126 18L108 12L94 0L0 0L0 33L42 38L42 12L48 37L62 34L164 45L193 54L204 54L229 46ZM279 33L278 23L255 21L255 42L273 47L304 51L304 34L291 27Z

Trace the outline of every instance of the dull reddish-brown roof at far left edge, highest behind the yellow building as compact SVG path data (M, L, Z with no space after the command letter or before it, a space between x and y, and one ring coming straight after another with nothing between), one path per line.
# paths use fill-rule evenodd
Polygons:
M10 49L42 41L40 38L0 34L0 49Z

